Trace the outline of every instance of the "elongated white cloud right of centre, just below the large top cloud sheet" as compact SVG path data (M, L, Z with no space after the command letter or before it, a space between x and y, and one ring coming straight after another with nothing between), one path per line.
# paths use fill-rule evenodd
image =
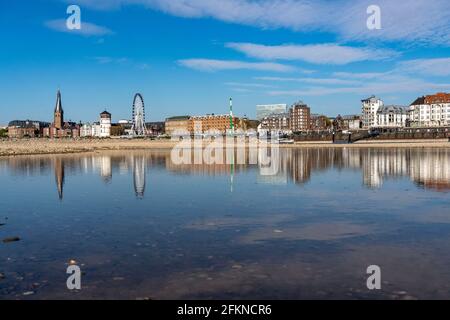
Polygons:
M397 55L392 50L355 48L337 44L267 46L254 43L228 43L252 58L264 60L297 60L316 64L347 64L357 61L381 60Z

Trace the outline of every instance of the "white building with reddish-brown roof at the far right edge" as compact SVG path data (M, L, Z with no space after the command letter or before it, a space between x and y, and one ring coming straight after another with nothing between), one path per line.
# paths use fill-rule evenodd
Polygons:
M417 98L410 108L412 127L444 127L450 125L450 94L437 93Z

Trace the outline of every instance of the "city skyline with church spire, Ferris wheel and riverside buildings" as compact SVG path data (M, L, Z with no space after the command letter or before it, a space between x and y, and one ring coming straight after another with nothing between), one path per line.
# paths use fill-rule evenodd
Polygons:
M373 128L408 128L408 127L445 127L450 125L450 94L436 93L416 99L409 107L385 105L384 101L372 95L361 100L360 115L338 114L327 117L315 114L311 107L298 101L287 110L287 104L257 105L259 123L246 116L238 117L233 114L230 99L229 114L207 114L201 116L174 116L167 118L164 123L145 123L145 109L142 95L135 95L132 106L133 120L120 120L112 123L112 115L108 111L100 114L100 121L91 123L75 123L65 121L62 106L62 95L58 89L56 105L51 124L42 121L13 120L8 125L8 135L11 138L47 137L47 138L78 138L96 137L109 138L111 136L136 134L168 134L175 131L185 131L191 134L204 134L216 131L226 134L235 129L258 129L259 133L279 131L282 134L292 134L310 131L341 131ZM281 111L281 113L280 113ZM258 120L256 120L258 121ZM258 128L254 127L259 124ZM131 125L131 127L130 127Z

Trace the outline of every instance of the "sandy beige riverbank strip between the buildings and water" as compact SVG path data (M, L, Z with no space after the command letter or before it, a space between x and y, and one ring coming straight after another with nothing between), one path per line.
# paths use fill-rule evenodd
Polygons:
M103 150L143 150L171 149L172 141L150 140L0 140L0 156L65 154L95 152ZM281 145L283 148L450 148L447 140L393 140L364 141L355 144L332 144L331 142L301 142L294 145Z

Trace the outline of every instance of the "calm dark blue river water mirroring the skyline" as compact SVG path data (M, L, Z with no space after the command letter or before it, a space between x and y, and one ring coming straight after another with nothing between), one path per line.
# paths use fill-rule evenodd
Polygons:
M168 151L14 157L0 181L0 240L21 238L0 242L0 299L450 299L448 149L281 150L276 176Z

